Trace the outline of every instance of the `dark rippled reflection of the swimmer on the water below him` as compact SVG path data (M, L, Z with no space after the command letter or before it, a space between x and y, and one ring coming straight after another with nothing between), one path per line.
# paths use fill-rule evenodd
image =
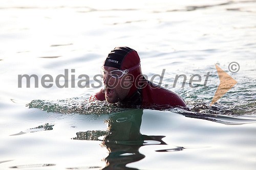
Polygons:
M102 169L136 169L126 167L126 164L145 157L139 152L140 147L148 144L166 144L162 140L165 136L147 136L140 133L142 114L142 109L112 113L105 120L108 131L78 132L77 137L73 139L102 140L101 146L109 152L109 155L104 158L106 164ZM179 147L157 152L182 151L183 149Z

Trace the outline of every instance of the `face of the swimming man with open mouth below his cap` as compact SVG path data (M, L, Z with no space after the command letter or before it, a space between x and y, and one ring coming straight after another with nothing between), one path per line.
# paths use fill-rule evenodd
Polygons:
M105 99L109 103L116 103L122 101L130 91L131 88L131 77L127 74L119 79L113 78L109 73L117 68L103 66L106 70L106 75L103 76L103 83L105 85Z

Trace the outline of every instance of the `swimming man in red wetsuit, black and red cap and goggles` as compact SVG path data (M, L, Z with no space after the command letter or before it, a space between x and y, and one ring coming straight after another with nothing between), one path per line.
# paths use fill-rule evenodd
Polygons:
M184 107L184 100L175 92L147 81L141 72L138 53L130 47L116 47L101 68L104 88L92 99L117 103L120 107L168 109Z

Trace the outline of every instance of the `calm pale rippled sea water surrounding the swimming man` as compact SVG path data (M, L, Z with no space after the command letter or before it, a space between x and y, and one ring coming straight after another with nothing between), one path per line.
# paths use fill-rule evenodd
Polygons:
M254 169L255 7L256 1L2 1L0 168ZM162 86L192 111L86 102L101 88L94 77L104 58L123 45L139 53L148 79L164 69ZM229 70L231 62L238 72ZM220 83L215 64L238 83L210 106ZM58 85L65 69L67 81ZM36 75L38 87L23 80L19 88L18 75ZM43 87L44 75L52 87ZM175 83L177 75L186 79ZM190 84L194 75L202 79Z

